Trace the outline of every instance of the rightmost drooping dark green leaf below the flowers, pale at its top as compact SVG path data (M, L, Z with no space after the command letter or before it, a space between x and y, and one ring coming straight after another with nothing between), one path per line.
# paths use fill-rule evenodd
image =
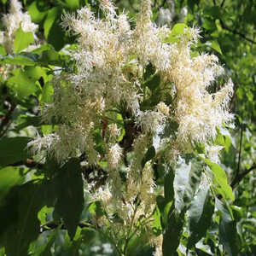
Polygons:
M218 236L219 241L224 246L224 250L230 256L236 256L239 253L237 244L237 231L236 231L236 222L233 220L230 215L230 210L228 207L222 202L219 201L218 198L216 200L216 207L219 212L221 212L221 220L218 225Z

